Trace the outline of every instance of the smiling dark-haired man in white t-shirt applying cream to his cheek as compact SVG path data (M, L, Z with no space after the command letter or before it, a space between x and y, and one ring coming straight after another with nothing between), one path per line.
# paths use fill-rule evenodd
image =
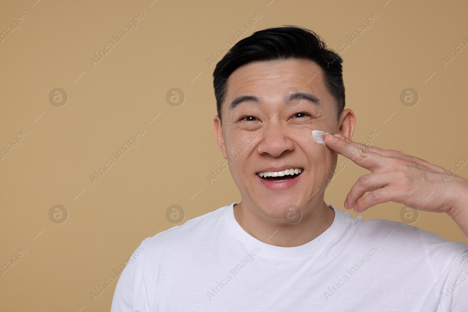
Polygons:
M342 62L294 26L257 31L228 51L213 73L214 131L241 202L143 240L112 312L468 310L466 244L352 219L324 202L340 153L372 172L346 209L394 201L447 213L468 235L467 180L351 141ZM314 130L334 135L319 144Z

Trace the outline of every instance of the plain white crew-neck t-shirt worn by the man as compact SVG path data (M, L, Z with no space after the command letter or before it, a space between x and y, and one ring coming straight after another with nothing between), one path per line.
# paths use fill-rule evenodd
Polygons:
M468 311L468 245L336 209L297 247L245 232L233 206L144 239L111 312Z

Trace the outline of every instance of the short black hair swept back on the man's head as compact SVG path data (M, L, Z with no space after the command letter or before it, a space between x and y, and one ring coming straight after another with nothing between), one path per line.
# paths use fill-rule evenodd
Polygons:
M295 25L258 30L226 53L213 71L216 109L221 119L221 105L227 91L227 79L240 66L254 61L305 58L322 68L327 90L336 100L336 117L344 109L343 59L329 49L314 31ZM312 76L311 76L312 77Z

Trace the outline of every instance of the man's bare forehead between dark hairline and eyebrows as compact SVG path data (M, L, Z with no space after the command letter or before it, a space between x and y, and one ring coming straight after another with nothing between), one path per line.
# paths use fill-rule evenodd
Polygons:
M247 93L279 97L291 87L324 100L331 97L325 90L319 65L308 59L287 59L251 62L237 68L227 80L226 100Z

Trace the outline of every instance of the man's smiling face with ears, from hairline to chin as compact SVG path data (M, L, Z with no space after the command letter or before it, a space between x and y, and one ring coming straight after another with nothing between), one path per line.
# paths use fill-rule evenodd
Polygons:
M337 120L322 69L306 59L239 67L227 80L222 126L219 116L214 120L219 149L230 160L242 202L273 218L282 218L289 205L307 213L323 203L337 153L315 143L312 131L351 137L353 128L351 110Z

